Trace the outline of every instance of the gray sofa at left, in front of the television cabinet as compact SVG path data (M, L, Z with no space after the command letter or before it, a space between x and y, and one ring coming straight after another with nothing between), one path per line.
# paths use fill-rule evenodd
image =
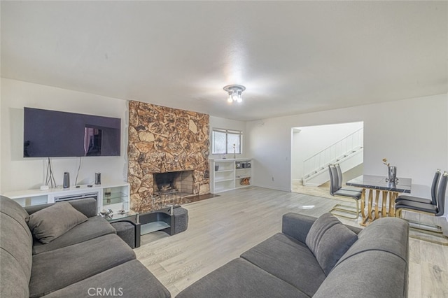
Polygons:
M170 297L109 222L96 215L94 199L70 204L83 222L41 243L37 228L29 228L31 217L52 205L26 210L0 197L0 297ZM57 215L52 220L57 222ZM64 224L64 218L57 223Z

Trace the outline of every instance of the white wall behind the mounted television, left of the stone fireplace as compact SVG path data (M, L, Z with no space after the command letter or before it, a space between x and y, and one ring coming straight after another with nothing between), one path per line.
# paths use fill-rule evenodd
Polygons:
M127 180L127 101L56 87L1 78L1 170L0 193L38 188L43 184L43 158L23 158L23 108L102 115L121 118L120 157L83 157L78 184L94 182L94 173L102 173L102 182ZM75 183L79 157L52 158L55 179L62 185L64 171Z

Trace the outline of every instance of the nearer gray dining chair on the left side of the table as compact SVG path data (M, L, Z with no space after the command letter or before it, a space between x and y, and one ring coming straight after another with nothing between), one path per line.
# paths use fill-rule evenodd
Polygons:
M333 197L349 197L349 198L353 199L356 203L355 207L353 207L351 205L346 205L346 204L336 204L330 210L330 213L332 213L333 215L341 216L342 218L349 218L352 220L357 219L360 214L359 200L361 198L362 192L357 191L357 190L346 190L340 186L340 185L342 185L342 182L339 183L337 166L335 166L335 164L329 164L328 171L330 173L330 194ZM341 177L342 177L342 173L341 173ZM352 214L352 215L351 216L344 215L344 213L348 213L348 214Z

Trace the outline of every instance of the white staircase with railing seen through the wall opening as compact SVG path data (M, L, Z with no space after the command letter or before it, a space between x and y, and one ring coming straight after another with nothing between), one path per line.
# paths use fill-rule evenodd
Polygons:
M318 186L328 180L328 164L340 164L342 172L363 163L363 135L360 128L336 143L317 152L303 161L302 183L304 186Z

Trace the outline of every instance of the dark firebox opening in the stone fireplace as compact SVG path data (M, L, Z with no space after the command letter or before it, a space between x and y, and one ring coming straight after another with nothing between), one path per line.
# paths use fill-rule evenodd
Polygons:
M193 171L153 173L154 194L176 194L186 197L193 194Z

